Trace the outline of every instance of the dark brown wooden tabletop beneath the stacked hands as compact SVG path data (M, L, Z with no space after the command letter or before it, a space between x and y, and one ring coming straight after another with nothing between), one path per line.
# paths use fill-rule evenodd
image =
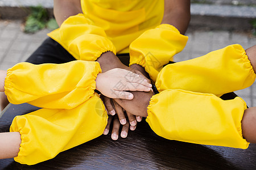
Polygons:
M1 113L0 132L9 131L16 115L35 109L28 104L8 105ZM170 141L143 120L126 139L112 141L110 135L101 135L36 165L0 160L0 169L256 169L256 145L242 150Z

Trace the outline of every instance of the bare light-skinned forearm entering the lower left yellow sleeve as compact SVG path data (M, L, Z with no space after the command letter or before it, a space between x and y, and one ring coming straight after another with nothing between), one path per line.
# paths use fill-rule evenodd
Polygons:
M18 156L20 142L19 132L0 133L0 159Z

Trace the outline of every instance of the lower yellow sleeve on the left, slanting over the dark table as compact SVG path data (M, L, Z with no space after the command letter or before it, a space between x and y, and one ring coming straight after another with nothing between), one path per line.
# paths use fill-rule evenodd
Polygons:
M21 164L36 164L62 151L100 136L108 122L104 104L97 94L73 109L40 109L16 116L10 131L18 131Z

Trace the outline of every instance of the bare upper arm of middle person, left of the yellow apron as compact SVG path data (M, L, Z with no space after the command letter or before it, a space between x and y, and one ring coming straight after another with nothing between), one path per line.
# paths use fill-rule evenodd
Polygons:
M60 26L69 16L82 13L80 0L54 0L53 13Z

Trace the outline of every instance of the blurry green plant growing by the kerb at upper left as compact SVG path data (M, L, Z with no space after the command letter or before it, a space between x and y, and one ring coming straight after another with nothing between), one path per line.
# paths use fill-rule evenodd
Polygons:
M56 29L57 23L55 19L50 19L48 12L42 6L30 7L31 14L28 15L25 23L24 32L35 33L43 28Z

